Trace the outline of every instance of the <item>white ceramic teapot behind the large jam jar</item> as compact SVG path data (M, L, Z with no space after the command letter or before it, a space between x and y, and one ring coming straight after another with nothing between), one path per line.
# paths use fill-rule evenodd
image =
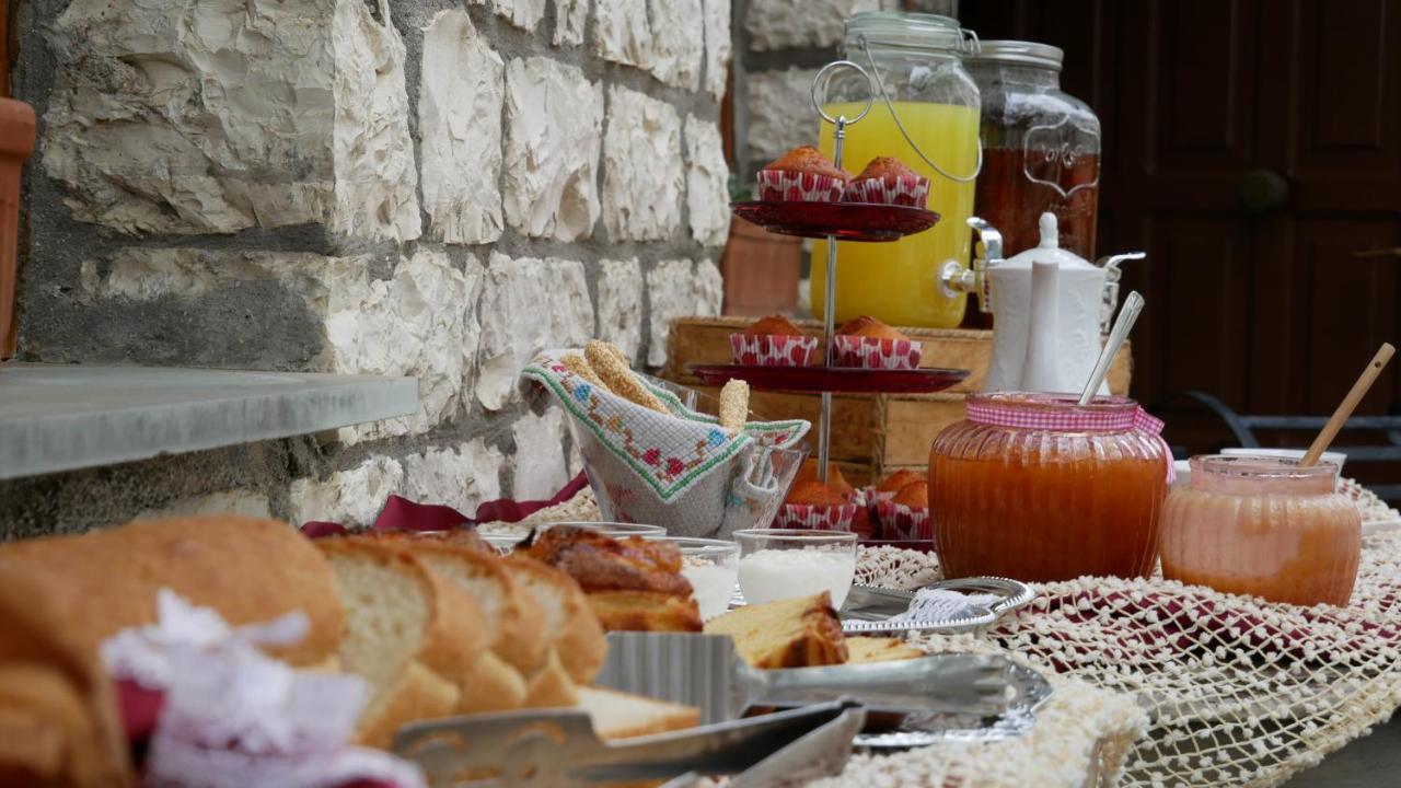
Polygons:
M995 317L986 391L1079 393L1100 356L1101 331L1118 301L1118 262L1100 268L1059 247L1055 215L1041 215L1041 244L989 259ZM1108 394L1108 384L1100 390Z

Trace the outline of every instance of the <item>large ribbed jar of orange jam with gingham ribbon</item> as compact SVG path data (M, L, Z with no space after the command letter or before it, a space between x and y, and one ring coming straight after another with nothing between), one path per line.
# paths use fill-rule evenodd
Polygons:
M1146 576L1171 454L1133 400L969 394L929 450L929 516L944 575Z

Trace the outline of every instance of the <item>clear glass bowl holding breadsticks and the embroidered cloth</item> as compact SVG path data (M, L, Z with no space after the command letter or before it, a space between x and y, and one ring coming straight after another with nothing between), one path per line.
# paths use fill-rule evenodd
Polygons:
M644 377L677 395L685 407L702 414L719 412L717 397L665 380ZM750 414L751 421L762 416ZM778 449L752 443L724 460L723 484L698 484L670 501L640 488L637 473L614 454L577 418L565 419L574 446L584 460L588 485L605 520L651 523L671 536L729 538L737 530L766 526L807 457L807 447Z

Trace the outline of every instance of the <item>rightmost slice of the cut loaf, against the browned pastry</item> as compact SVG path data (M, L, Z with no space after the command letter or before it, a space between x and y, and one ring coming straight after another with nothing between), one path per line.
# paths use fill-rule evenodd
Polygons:
M591 681L604 666L608 644L579 583L523 555L510 555L503 565L544 610L545 631L555 632L552 645L570 679L581 684Z

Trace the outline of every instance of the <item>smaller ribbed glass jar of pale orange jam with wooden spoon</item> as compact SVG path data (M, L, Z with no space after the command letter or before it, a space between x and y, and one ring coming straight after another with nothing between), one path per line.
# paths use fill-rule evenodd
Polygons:
M1332 463L1192 457L1163 505L1163 576L1290 604L1348 604L1362 515L1337 492Z

